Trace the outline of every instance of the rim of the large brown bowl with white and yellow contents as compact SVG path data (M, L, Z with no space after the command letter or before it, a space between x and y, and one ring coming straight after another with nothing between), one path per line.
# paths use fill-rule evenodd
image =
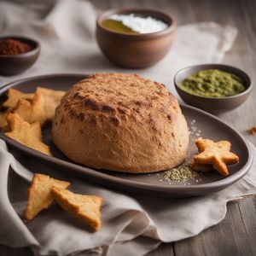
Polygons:
M110 30L104 26L102 26L101 22L105 16L113 15L113 14L121 14L123 12L136 12L136 13L155 13L158 15L165 16L167 19L171 20L171 24L167 24L167 28L161 30L159 32L148 32L148 33L129 33L129 32L115 32ZM170 32L173 32L176 28L176 20L173 18L172 15L169 15L159 9L149 9L149 8L115 8L115 9L108 9L103 11L96 20L97 27L100 27L105 32L110 32L113 35L129 37L129 38L152 38L152 37L159 37L164 36Z

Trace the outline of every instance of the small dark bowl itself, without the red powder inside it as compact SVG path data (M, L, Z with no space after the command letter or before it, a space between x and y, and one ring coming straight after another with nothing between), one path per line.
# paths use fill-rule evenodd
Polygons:
M34 62L38 60L41 49L40 44L32 38L18 36L0 37L0 41L8 38L29 44L32 46L32 49L19 55L0 55L0 74L15 75L22 73L27 68L32 67Z

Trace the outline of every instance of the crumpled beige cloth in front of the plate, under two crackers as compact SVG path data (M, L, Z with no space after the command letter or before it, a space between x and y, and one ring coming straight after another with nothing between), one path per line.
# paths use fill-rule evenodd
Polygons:
M0 140L0 243L30 246L36 255L125 256L148 253L160 241L195 236L224 218L228 201L256 194L256 149L252 144L250 148L253 166L237 183L213 195L170 199L129 195L86 183L17 151L10 154ZM26 189L32 178L29 170L70 181L76 193L102 196L102 230L91 233L57 205L23 222Z

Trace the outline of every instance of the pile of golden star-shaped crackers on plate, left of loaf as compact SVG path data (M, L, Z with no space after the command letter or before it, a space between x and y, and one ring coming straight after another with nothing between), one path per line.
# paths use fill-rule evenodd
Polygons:
M4 112L0 113L0 130L29 148L51 155L49 146L43 143L41 127L53 119L64 94L63 90L43 87L38 87L34 93L10 88L8 99L2 105Z

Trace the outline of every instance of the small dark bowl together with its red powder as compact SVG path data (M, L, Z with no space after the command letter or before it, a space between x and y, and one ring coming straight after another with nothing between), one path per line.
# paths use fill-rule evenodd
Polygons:
M32 38L0 37L0 74L24 72L38 60L40 49L40 44Z

